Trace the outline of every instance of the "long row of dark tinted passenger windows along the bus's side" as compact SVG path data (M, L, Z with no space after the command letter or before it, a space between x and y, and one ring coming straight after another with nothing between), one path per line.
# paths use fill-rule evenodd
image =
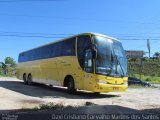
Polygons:
M53 43L19 55L19 62L59 57L75 56L75 38Z

